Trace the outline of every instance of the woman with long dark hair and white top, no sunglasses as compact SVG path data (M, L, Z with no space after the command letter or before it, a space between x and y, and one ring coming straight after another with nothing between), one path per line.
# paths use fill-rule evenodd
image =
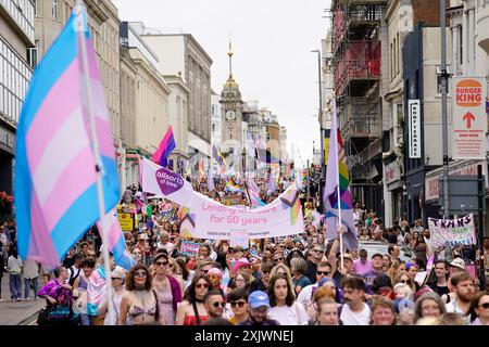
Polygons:
M302 304L294 301L292 286L286 275L272 277L268 285L271 309L268 318L280 325L305 325L309 321L308 312Z

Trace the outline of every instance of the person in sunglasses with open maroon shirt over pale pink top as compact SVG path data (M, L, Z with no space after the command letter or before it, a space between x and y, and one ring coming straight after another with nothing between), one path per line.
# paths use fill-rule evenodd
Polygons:
M158 295L160 323L175 325L178 303L181 301L181 287L177 279L168 272L170 259L164 252L158 253L153 259L153 288Z

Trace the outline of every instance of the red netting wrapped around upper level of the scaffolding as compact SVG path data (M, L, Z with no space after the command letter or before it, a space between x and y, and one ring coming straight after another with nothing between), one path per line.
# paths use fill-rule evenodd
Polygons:
M336 94L341 95L351 79L380 75L380 42L351 41L335 68Z

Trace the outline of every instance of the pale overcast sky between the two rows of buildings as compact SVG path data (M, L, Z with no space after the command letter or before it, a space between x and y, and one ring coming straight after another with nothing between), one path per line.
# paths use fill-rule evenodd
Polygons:
M317 55L329 0L112 0L122 21L191 34L212 57L211 85L221 93L228 76L228 40L235 55L233 75L243 101L258 100L287 127L302 160L319 144ZM296 160L299 157L296 154Z

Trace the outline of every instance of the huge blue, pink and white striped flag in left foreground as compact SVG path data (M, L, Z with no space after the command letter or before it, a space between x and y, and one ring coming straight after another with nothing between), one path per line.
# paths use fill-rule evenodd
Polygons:
M84 73L80 44L87 49ZM76 5L38 65L22 108L15 152L15 214L18 253L47 268L100 219L90 132L90 85L105 213L120 198L117 166L104 89L90 39L87 11Z

